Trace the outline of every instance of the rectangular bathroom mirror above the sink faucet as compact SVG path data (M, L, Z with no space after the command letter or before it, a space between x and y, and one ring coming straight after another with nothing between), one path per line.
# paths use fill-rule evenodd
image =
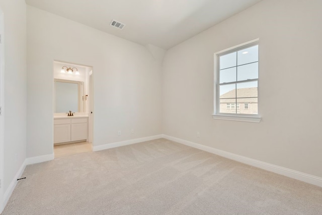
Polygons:
M83 112L84 82L54 79L54 113Z

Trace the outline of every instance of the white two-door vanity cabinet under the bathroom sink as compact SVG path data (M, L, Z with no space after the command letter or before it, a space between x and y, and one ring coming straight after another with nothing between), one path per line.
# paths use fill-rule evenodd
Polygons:
M87 139L88 118L54 119L54 144Z

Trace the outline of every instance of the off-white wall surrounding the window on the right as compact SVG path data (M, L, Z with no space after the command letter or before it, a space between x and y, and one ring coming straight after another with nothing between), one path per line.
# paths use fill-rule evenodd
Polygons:
M322 177L321 8L264 0L168 50L164 134ZM213 120L214 53L256 38L262 122Z

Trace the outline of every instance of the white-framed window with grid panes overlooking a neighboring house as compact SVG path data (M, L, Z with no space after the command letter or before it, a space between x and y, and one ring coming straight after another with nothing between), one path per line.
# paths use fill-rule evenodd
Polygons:
M258 40L218 52L216 58L215 116L258 116ZM244 109L240 109L244 103ZM249 108L249 103L252 108ZM228 110L228 104L230 109ZM259 122L258 121L258 122Z

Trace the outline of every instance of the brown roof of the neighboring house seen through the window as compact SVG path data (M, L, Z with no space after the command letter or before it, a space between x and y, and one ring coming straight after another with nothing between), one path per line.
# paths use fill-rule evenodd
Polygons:
M237 89L237 102L257 102L258 101L258 87L240 88ZM220 103L235 103L236 89L230 90L220 95ZM256 98L250 98L256 97Z

